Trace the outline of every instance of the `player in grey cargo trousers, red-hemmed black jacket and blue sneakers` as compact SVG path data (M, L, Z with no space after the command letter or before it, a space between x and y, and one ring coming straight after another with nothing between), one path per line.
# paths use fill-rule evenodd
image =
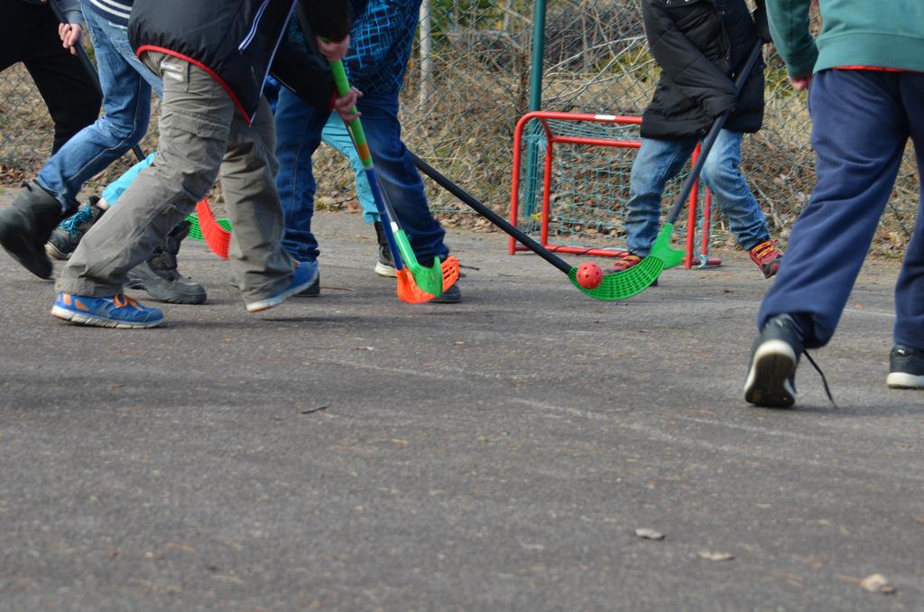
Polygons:
M323 55L346 55L350 6L298 2L313 30L331 41L319 39ZM317 267L297 265L282 248L273 117L261 95L295 4L135 0L129 40L164 82L157 157L80 241L58 282L53 316L110 327L161 324L162 312L124 295L127 273L193 210L219 174L235 226L232 272L247 311L273 308L311 284Z

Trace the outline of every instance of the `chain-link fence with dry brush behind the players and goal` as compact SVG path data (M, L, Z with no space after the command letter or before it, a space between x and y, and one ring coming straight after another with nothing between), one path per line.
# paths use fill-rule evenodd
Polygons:
M408 148L502 214L510 205L514 129L529 110L534 9L528 0L423 0L402 93ZM648 52L638 0L549 0L544 49L543 110L640 115L650 102L659 69ZM805 94L789 87L772 48L766 61L764 128L746 138L742 168L773 234L785 240L814 184L814 155ZM3 182L32 177L50 153L51 134L41 96L25 69L0 74ZM143 148L151 151L155 145L152 120ZM132 161L127 155L88 189L98 190ZM358 209L346 161L322 149L316 165L318 207ZM427 183L438 216L488 228L487 221ZM918 177L909 147L877 251L901 252L917 206ZM716 223L714 241L733 243L723 219ZM618 242L619 237L606 239Z

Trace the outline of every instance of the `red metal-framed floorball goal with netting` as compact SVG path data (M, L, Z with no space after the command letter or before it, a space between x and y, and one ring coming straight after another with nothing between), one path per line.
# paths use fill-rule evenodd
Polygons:
M618 257L626 252L624 219L629 171L638 153L641 117L536 111L514 133L510 222L550 251ZM697 151L693 153L695 161ZM666 214L687 170L668 182ZM709 254L711 201L694 187L676 224L687 268L721 265ZM510 239L509 252L526 251Z

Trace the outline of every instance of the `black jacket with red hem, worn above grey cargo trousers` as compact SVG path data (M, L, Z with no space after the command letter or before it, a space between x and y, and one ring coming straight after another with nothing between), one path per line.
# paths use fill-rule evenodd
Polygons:
M218 80L250 122L260 104L263 80L280 47L280 64L291 58L286 24L297 0L135 0L128 38L138 55L159 51L182 57ZM332 40L349 33L352 11L340 0L298 0L313 31ZM289 61L289 78L311 79ZM316 66L317 68L317 66ZM302 85L302 91L310 90ZM319 92L319 98L330 90Z

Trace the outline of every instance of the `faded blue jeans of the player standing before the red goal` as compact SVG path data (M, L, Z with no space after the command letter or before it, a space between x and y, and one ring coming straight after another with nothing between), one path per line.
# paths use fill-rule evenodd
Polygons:
M629 177L626 238L629 251L646 256L658 237L664 185L675 177L696 149L698 139L642 139ZM741 174L741 133L723 129L702 168L702 178L738 242L746 250L770 239L767 219ZM672 202L673 203L673 202Z

